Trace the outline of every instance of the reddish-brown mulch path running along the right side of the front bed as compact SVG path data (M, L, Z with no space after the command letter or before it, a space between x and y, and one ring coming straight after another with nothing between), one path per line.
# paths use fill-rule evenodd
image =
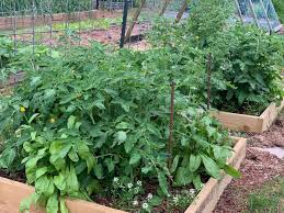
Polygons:
M284 114L270 131L249 134L247 157L241 165L242 178L232 180L225 190L214 213L240 213L248 211L248 197L275 177L284 178L284 159L260 148L284 148ZM284 198L283 198L284 199Z

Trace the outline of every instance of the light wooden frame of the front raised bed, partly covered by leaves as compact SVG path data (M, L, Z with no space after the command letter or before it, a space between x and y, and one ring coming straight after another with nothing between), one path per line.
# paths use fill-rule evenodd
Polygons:
M246 157L246 138L235 138L234 156L228 160L228 164L235 168L239 168L241 161ZM196 199L189 206L185 213L209 213L215 209L223 191L231 181L231 177L223 175L221 180L211 178ZM0 212L1 213L18 213L20 203L34 192L34 188L27 184L0 178ZM67 208L70 213L124 213L123 211L106 208L96 203L91 203L81 200L67 200ZM31 210L31 213L43 213L43 210Z

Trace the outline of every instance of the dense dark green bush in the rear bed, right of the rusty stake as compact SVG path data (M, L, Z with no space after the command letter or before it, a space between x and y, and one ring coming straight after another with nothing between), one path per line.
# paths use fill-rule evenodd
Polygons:
M268 35L254 26L236 25L219 33L211 46L213 54L218 53L213 65L214 107L259 114L271 102L282 101L280 36Z

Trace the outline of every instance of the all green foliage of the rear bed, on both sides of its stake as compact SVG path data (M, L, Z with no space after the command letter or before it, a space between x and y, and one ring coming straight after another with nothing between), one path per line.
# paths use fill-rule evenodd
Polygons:
M260 114L272 101L280 102L283 98L282 37L268 35L255 26L227 24L226 16L223 22L212 27L205 23L214 19L214 13L208 13L207 16L204 13L200 16L203 18L202 23L193 18L181 24L173 24L164 19L158 20L149 34L149 40L155 47L168 46L173 52L182 53L183 57L191 57L191 48L203 56L197 58L198 64L203 66L193 69L194 74L192 72L192 76L198 77L193 85L200 90L197 97L204 98L202 102L206 102L207 98L206 65L209 53L213 56L211 98L214 108ZM197 29L203 23L204 32ZM205 32L206 27L208 32L212 31L209 34Z

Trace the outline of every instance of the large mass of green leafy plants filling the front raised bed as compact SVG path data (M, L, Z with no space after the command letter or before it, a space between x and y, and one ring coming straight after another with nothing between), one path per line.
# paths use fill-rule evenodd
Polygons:
M194 103L194 79L186 76L197 68L198 54L188 51L191 57L170 48L109 53L93 44L11 64L24 65L26 77L14 96L0 99L0 166L24 167L27 182L35 186L21 210L36 202L47 213L66 211L65 197L89 199L112 189L114 177L157 182L163 198L170 184L193 183L200 190L203 178L219 179L220 169L239 176L226 165L228 134ZM173 79L174 143L169 153Z

